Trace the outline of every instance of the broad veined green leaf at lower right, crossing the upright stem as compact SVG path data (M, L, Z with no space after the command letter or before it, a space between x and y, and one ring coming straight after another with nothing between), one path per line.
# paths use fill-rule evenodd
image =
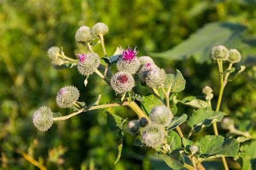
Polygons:
M216 135L206 135L195 145L200 147L200 158L235 157L239 150L239 142L236 139Z

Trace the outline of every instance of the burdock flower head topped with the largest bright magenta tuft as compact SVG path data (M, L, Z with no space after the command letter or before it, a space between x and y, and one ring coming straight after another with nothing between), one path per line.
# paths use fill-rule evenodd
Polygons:
M124 71L134 74L139 70L140 62L136 57L138 51L136 48L132 50L130 47L122 52L122 57L117 62L118 71Z

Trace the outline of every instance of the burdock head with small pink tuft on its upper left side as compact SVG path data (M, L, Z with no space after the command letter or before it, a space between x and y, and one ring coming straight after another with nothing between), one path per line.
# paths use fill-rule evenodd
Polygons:
M97 53L89 52L86 54L78 54L77 70L83 76L90 76L98 68L100 59Z

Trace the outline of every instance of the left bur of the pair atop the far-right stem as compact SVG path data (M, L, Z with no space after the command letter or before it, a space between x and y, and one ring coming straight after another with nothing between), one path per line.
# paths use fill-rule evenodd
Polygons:
M223 45L214 46L211 50L211 57L214 60L227 60L229 52Z

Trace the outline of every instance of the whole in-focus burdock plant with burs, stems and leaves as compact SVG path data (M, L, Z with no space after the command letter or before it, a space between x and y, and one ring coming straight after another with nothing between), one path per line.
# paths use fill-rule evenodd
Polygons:
M210 86L204 87L203 98L179 99L178 93L185 89L186 84L182 73L179 70L175 74L166 73L154 63L152 57L140 57L136 47L118 47L114 55L108 56L104 44L104 35L108 31L109 28L104 23L96 23L92 28L82 26L76 32L75 40L84 44L87 51L77 54L75 59L65 56L62 49L53 46L48 50L48 56L55 69L77 67L78 72L85 76L85 86L87 79L96 73L112 87L119 102L99 104L100 94L95 102L85 104L78 101L77 87L65 86L58 91L56 103L61 108L70 108L73 113L61 116L53 113L48 106L39 107L33 114L35 127L39 131L48 131L53 122L70 119L82 112L102 108L110 112L107 111L108 107L127 106L138 115L138 119L126 124L127 118L111 113L113 118L108 125L111 126L111 130L121 132L120 135L127 131L134 135L135 146L153 149L154 157L163 159L173 169L205 169L201 162L212 158L221 158L225 169L228 169L225 157L230 157L228 160L232 160L231 157L238 158L240 146L238 140L232 137L242 135L247 140L252 139L249 133L237 130L231 118L224 119L226 113L219 111L224 87L245 69L244 66L240 66L240 69L232 67L233 64L240 62L240 52L236 49L228 50L223 45L212 47L210 55L213 62L218 63L220 82L217 106L214 109L211 104L211 100L214 99L213 90ZM93 51L93 46L98 43L102 46L104 56ZM228 63L226 70L223 65L225 63ZM111 69L112 67L116 68ZM98 70L99 68L102 71ZM113 70L117 71L113 73ZM149 93L144 96L136 94L133 89L138 84L143 85L142 88L147 89ZM188 114L178 113L178 103L192 106L193 111ZM232 134L228 139L218 133L217 123L223 119L221 127ZM213 126L214 135L201 134L197 135L197 140L190 140L193 134L200 133L203 128L210 125ZM188 133L184 134L184 130ZM122 145L122 142L119 141L119 145ZM118 147L118 152L116 162L120 158L122 147ZM185 161L184 157L190 161Z

